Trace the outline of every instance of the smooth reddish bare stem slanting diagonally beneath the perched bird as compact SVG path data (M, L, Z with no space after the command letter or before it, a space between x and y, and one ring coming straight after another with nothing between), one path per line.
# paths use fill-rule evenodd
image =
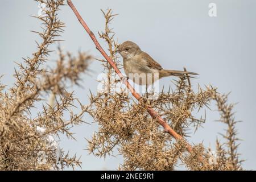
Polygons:
M95 35L93 34L92 31L90 31L90 28L87 26L87 24L85 23L85 21L82 19L81 15L79 14L79 12L77 11L76 7L73 5L71 0L68 0L68 5L71 7L71 9L73 10L73 12L75 13L77 19L79 19L79 22L82 24L82 26L84 27L85 31L90 35L90 38L92 38L96 48L98 49L98 51L101 52L102 56L105 57L105 59L109 62L110 65L112 65L112 67L114 68L115 72L117 73L117 75L120 78L123 78L124 76L122 75L122 73L119 71L119 69L117 68L117 65L115 65L114 61L107 55L107 53L104 51L104 49L101 47L100 43L98 43L98 40L96 39ZM133 88L133 86L131 86L129 84L129 82L125 79L124 81L125 85L127 86L127 88L131 91L131 93L133 94L133 96L139 100L141 98L141 95L139 95L136 90ZM152 118L156 119L160 125L162 125L164 127L164 131L171 134L172 137L174 137L175 139L183 139L183 137L181 137L181 135L177 134L169 125L166 121L164 121L164 119L162 117L160 117L160 115L151 107L147 107L147 111L148 113L151 115ZM192 152L192 147L190 144L187 143L187 150L189 152Z

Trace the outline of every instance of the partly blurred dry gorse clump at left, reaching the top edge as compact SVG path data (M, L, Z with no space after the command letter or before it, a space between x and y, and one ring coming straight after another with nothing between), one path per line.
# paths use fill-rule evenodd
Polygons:
M42 32L36 32L41 43L32 57L24 59L15 69L15 84L10 89L0 86L0 169L63 169L80 166L76 156L70 157L61 151L57 136L59 133L72 137L69 129L82 122L81 112L74 114L72 107L78 101L69 85L79 84L81 73L86 72L90 56L79 53L74 57L59 49L59 60L55 68L43 68L51 50L48 47L58 42L64 23L57 18L64 0L47 0L42 15L35 16L42 23ZM49 96L49 102L45 97ZM36 102L43 102L42 110L32 118L31 109ZM70 118L64 119L68 112ZM34 114L35 115L35 114Z

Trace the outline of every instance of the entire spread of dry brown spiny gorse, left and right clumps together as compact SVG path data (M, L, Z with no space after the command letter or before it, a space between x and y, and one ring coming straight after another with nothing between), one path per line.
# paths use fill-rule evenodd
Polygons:
M42 42L37 43L37 51L32 57L24 59L15 69L15 84L7 89L0 85L0 169L35 170L64 169L80 166L76 156L69 157L57 143L58 134L72 138L71 129L82 123L82 115L89 113L98 124L98 131L88 139L88 151L96 156L106 157L117 148L123 156L119 169L127 170L174 170L179 160L189 170L241 170L242 160L237 152L236 120L233 105L229 105L227 96L219 94L216 88L198 87L194 91L189 77L180 77L175 87L168 92L159 93L156 100L149 100L154 93L143 95L135 101L126 89L117 89L121 81L111 65L100 60L104 66L106 80L103 90L91 93L90 104L82 105L68 92L70 85L79 85L81 73L88 72L91 57L79 53L63 53L59 48L59 59L55 68L43 68L48 60L49 46L58 42L64 23L57 18L59 7L64 0L36 0L44 5L42 14L36 16L43 23L42 32L36 32ZM115 51L118 43L109 23L114 16L112 10L104 13L105 31L100 38L108 44L109 55L117 64L119 57ZM114 92L113 92L114 90ZM49 101L45 98L49 96ZM36 117L32 109L36 103L43 103L42 109L36 108ZM74 114L74 102L81 106L80 113ZM210 107L215 102L220 113L220 121L227 126L223 134L224 143L216 141L216 154L207 151L203 143L193 146L191 153L186 151L186 137L192 137L187 130L195 129L205 122L205 118L196 118L193 113ZM158 111L168 124L183 139L175 140L162 126L147 113L150 106ZM69 119L64 118L68 113ZM203 140L203 139L202 139Z

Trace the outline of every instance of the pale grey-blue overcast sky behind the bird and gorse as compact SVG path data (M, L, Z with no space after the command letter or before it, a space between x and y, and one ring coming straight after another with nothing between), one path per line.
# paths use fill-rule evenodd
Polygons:
M216 3L217 16L208 15L209 3ZM88 26L97 35L104 30L104 17L100 9L111 8L119 14L112 27L119 42L132 40L143 51L158 60L163 68L183 69L200 73L192 84L201 86L212 84L220 93L230 93L229 102L238 103L234 108L238 137L242 139L239 147L245 169L256 169L256 1L255 0L98 0L73 3L80 11ZM92 40L85 33L68 6L62 7L60 19L66 23L61 46L76 53L79 49L102 58L95 49ZM38 14L38 5L32 0L1 0L0 6L0 75L3 84L14 83L14 61L31 56L36 50L35 39L38 37L30 30L40 30L40 22L30 15ZM102 46L106 44L100 40ZM56 46L52 48L55 49ZM51 60L55 60L52 53ZM88 104L89 89L97 89L96 78L103 70L98 61L90 65L92 73L84 76L84 89L74 88L76 96L83 104ZM170 78L163 78L160 86L170 85ZM216 107L213 107L216 108ZM85 115L87 122L92 118ZM225 125L215 122L217 112L207 112L207 122L193 137L191 143L204 141L205 146L214 143L218 133L225 132ZM77 141L61 137L60 145L71 154L82 155L82 169L116 169L122 163L122 156L106 159L88 155L86 140L97 123L75 127ZM193 133L193 130L191 130ZM181 168L182 169L182 168Z

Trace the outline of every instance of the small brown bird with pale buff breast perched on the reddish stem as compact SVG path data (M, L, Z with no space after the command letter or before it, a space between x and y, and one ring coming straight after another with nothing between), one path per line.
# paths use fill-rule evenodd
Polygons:
M150 55L131 41L122 43L117 52L123 57L123 69L126 75L139 85L151 85L167 76L198 75L193 72L163 69Z

